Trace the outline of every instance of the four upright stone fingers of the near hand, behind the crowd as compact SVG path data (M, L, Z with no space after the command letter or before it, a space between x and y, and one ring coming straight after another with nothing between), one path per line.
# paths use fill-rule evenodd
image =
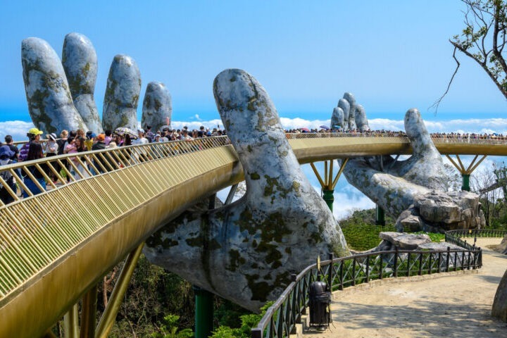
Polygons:
M43 39L24 39L21 61L28 111L40 130L59 134L63 129L96 133L117 127L137 129L141 75L130 56L113 58L104 95L102 122L94 101L97 57L87 37L78 33L65 36L61 61ZM154 83L165 89L161 82ZM146 90L150 98L153 92ZM156 95L160 97L154 101L154 106L156 112L163 112L163 116L152 113L151 125L164 125L172 112L170 94L165 89Z

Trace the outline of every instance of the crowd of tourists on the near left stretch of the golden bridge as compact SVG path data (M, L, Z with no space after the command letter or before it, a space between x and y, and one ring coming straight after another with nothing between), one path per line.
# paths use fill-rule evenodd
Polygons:
M126 130L126 128L118 128L122 132L113 132L112 130L105 130L104 133L95 134L92 131L84 132L84 130L62 130L57 136L55 133L46 134L46 138L42 139L42 130L32 128L27 132L28 141L18 149L18 146L13 144L13 138L11 135L6 135L5 143L0 142L0 165L8 165L12 163L18 163L23 161L33 161L39 158L48 158L51 156L57 156L62 154L75 154L83 151L93 151L101 149L111 149L118 146L131 146L135 144L149 144L154 142L169 142L175 140L192 140L200 137L212 137L221 136L225 134L225 130L220 128L205 128L201 126L199 130L189 130L188 127L180 129L171 129L170 127L164 127L162 130L156 132L151 131L151 127L146 126L146 130L139 128L137 133L132 130ZM144 161L146 156L143 151L139 151L139 161ZM104 161L101 159L99 161ZM70 164L73 163L73 165ZM100 165L101 164L101 165ZM111 163L110 163L111 164ZM61 165L56 161L49 164L54 170L49 168L47 163L39 164L42 172L50 177L54 183L57 183L56 173L60 173L61 177L65 177L66 180L70 180L70 177L66 173L73 175L75 179L80 177L87 177L89 172L93 175L94 169L88 166L86 161L79 161L77 157L70 157L65 162L68 170L63 170ZM87 168L84 168L84 165ZM103 171L104 168L108 168L106 163L96 163L95 168L99 171ZM114 166L113 166L114 168ZM77 171L79 173L77 173ZM40 194L46 189L46 178L44 177L41 170L37 169L36 165L27 166L27 171L23 172L18 169L16 174L23 180L23 184L27 187L32 194ZM30 174L29 174L30 173ZM11 188L15 194L23 197L29 196L28 192L23 189L18 182L15 180L15 176L9 170L0 170L0 177L4 182ZM37 181L37 182L35 182ZM40 187L43 189L41 190ZM0 182L0 200L4 204L11 203L14 201L13 196L8 192L8 189Z

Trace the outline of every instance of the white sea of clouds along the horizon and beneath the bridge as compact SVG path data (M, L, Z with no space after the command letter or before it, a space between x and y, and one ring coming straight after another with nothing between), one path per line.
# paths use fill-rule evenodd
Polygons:
M287 130L301 127L318 129L321 125L330 125L330 120L305 120L303 118L280 118L280 122L282 123L282 127ZM403 120L374 118L368 120L368 123L372 130L405 130ZM507 118L425 120L425 124L429 132L475 132L480 134L497 133L507 135ZM199 129L201 125L211 129L213 129L213 127L220 127L223 129L222 121L219 119L208 121L173 121L171 123L171 126L175 129L181 129L185 125L191 130ZM32 127L34 127L32 123L18 120L0 122L0 140L3 141L6 134L11 134L15 140L25 140L27 139L27 131ZM472 161L472 156L462 156L461 158L465 166ZM501 161L504 161L504 158L489 156L481 163L480 167L477 168L477 172L485 168L491 168L494 163ZM444 157L444 163L450 163L446 157ZM316 163L316 165L319 172L323 173L323 162ZM337 163L335 163L335 168L337 168ZM320 185L310 165L302 165L301 169L303 173L306 174L306 177L308 177L313 187L315 187L315 190L320 193ZM228 189L220 192L218 194L220 199L225 199L225 197L227 197L227 192ZM368 197L352 187L351 184L348 184L345 177L340 177L337 187L334 190L333 213L337 219L345 218L355 210L374 207L375 204L373 204Z

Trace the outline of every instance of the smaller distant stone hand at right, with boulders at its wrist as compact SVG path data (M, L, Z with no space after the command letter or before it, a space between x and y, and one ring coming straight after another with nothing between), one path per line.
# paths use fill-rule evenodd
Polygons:
M365 128L361 123L357 127ZM477 194L445 191L448 177L442 156L417 109L406 112L405 130L413 148L410 158L405 161L394 161L390 156L351 158L344 169L347 181L398 218L399 231L443 232L483 226L485 220Z

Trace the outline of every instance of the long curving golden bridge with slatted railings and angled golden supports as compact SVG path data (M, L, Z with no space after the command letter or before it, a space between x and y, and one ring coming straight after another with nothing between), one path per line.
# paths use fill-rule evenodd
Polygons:
M411 154L403 134L304 133L287 138L300 163ZM507 156L503 138L447 136L433 142L441 154L457 156L458 163L451 161L462 173L471 172L485 156ZM475 158L465 168L459 155ZM482 158L476 161L478 156ZM327 172L327 164L325 168ZM0 202L0 337L41 337L63 315L68 337L105 337L146 238L199 199L243 180L227 137L88 151L0 169L8 170L29 195L21 198L0 177L14 199L7 205ZM37 183L34 170L44 176L47 189ZM43 192L34 195L20 171ZM332 169L328 173L331 178ZM96 284L126 256L96 325ZM81 299L79 333L76 304Z

